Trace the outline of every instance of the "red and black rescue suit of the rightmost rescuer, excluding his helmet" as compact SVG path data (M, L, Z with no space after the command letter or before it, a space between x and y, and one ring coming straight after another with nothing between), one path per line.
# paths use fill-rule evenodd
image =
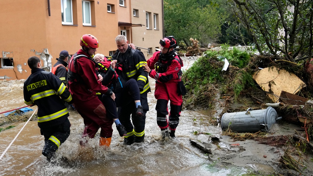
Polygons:
M149 76L156 80L154 97L157 99L155 107L155 110L157 111L157 124L161 130L169 128L171 132L175 132L179 123L183 103L182 96L177 91L178 81L180 81L178 73L180 72L182 63L176 54L169 56L169 59L167 60L159 59L159 55L160 51L155 52L147 61L147 64L151 69ZM161 65L163 66L163 71L159 68ZM169 100L171 110L168 122L166 115L169 114L167 108Z

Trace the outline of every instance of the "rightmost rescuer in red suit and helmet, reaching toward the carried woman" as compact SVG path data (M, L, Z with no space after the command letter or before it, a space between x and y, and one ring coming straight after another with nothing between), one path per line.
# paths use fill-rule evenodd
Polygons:
M156 80L154 97L157 99L157 124L161 129L162 137L175 138L175 130L179 123L183 100L178 91L178 81L182 74L180 68L183 62L175 53L177 46L173 36L160 40L161 51L155 52L147 61L143 69ZM170 114L167 104L170 101ZM167 119L167 115L169 118Z

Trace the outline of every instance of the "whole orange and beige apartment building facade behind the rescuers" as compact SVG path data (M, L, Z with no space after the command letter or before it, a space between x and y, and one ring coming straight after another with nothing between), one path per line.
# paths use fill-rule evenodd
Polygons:
M60 0L50 0L51 16L48 15L46 0L32 0L32 3L25 0L0 1L0 57L13 58L13 69L0 68L0 80L26 79L31 71L27 65L31 56L41 58L44 69L50 71L60 51L75 54L81 48L79 42L83 34L94 35L99 41L97 53L108 56L109 51L117 49L114 39L124 29L118 26L119 21L145 24L145 14L133 18L133 4L141 12L159 13L160 28L125 27L129 42L143 48L159 46L163 31L162 1L126 0L126 7L121 7L119 0L90 0L93 26L82 25L81 0L72 1L74 25L62 25ZM107 12L107 3L114 4L115 13ZM147 56L146 50L142 51Z

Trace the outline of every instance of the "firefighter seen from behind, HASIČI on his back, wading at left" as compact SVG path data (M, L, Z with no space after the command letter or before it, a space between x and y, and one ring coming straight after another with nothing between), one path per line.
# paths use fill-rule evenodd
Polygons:
M60 97L71 104L72 96L57 76L41 69L38 57L30 57L27 63L32 73L24 82L24 100L38 106L38 127L44 135L42 154L51 161L70 135L69 113Z

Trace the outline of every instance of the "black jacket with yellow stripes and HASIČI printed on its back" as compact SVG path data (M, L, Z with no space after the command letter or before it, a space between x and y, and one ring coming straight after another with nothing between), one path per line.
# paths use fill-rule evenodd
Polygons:
M72 104L72 96L64 83L53 73L43 69L33 69L24 82L24 102L38 106L39 128L63 123L69 113L61 98Z

